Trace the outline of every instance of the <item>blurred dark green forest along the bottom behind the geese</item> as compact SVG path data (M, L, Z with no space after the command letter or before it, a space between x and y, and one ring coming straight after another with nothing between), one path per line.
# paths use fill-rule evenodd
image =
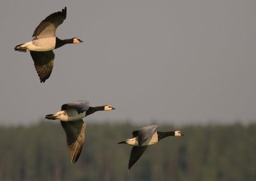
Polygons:
M132 147L117 143L142 126L88 123L76 164L59 122L0 127L0 180L256 180L256 124L182 126L128 170Z

